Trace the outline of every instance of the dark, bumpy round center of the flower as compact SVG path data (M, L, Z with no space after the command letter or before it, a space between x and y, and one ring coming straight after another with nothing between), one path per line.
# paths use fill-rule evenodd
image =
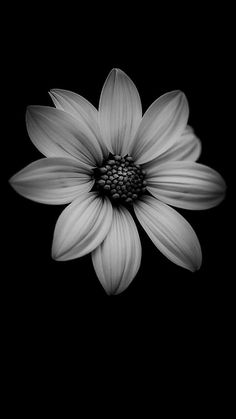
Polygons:
M145 171L132 157L110 154L95 171L95 187L112 201L131 204L146 192Z

